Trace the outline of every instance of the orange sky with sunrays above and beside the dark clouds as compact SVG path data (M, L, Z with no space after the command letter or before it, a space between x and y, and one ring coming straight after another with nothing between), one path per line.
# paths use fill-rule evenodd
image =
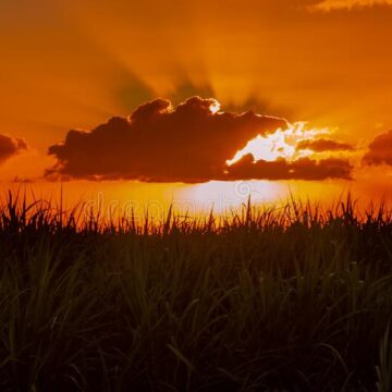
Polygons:
M392 130L388 3L2 0L0 134L23 138L28 150L1 163L0 180L45 183L54 163L48 147L69 130L93 130L156 97L176 105L200 95L223 110L333 128L358 149L350 186L388 192L391 166L358 163ZM135 186L120 185L91 187ZM70 185L78 186L86 188Z

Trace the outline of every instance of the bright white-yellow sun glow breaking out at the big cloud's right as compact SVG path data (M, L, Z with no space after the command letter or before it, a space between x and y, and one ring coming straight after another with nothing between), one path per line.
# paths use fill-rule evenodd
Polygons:
M287 161L307 157L313 154L311 150L296 150L296 144L305 138L315 138L316 135L329 134L328 128L307 128L305 122L290 124L286 130L277 130L273 134L267 136L258 135L249 140L246 146L237 151L232 159L226 160L228 166L238 162L244 156L250 154L255 161L265 160L272 162L278 158L284 158Z

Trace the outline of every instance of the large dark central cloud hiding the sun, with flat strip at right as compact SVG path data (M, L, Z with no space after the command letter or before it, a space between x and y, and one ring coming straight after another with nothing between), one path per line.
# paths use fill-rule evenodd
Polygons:
M138 180L198 183L210 180L348 179L347 161L301 159L250 162L226 160L249 139L290 125L252 111L218 111L212 99L192 97L172 108L164 99L139 106L130 118L112 118L90 132L72 130L49 147L57 160L49 179Z

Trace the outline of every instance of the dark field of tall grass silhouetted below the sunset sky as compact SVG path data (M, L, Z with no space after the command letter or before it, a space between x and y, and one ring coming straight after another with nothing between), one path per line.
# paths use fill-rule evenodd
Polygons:
M391 391L392 215L0 211L1 391Z

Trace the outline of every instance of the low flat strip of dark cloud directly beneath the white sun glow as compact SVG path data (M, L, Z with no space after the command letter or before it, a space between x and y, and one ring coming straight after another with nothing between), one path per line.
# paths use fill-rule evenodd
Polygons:
M230 167L228 177L230 180L352 180L352 170L353 167L344 159L328 158L316 161L301 158L289 162L281 158L272 162L265 160L254 162L253 156L247 155Z

